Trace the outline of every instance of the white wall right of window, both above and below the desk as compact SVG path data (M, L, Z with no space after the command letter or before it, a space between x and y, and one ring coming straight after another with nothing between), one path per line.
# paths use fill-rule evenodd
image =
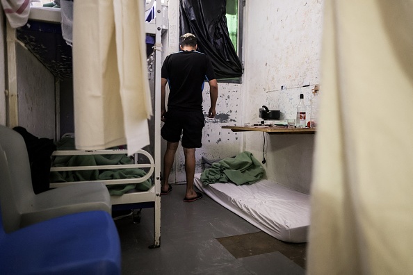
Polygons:
M246 3L244 121L256 122L262 105L281 110L281 119L295 118L300 93L305 95L309 112L311 88L320 79L322 1L249 0ZM286 90L281 90L282 85ZM303 85L309 87L302 88ZM243 149L260 161L264 137L267 177L308 193L314 135L243 133Z

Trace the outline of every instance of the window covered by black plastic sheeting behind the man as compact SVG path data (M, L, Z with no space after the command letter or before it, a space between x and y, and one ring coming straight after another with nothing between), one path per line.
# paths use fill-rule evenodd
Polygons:
M220 82L241 81L243 3L242 0L180 1L179 34L195 34L199 51L211 58Z

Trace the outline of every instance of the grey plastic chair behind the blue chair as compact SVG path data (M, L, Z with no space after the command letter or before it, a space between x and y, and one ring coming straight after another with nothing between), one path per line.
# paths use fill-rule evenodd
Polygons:
M111 214L111 197L103 183L35 194L26 144L19 133L6 126L0 126L0 201L6 233L67 214L92 210Z

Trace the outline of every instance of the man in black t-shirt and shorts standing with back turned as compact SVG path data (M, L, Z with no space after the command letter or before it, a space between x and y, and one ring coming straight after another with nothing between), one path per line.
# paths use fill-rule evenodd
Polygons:
M184 201L191 202L202 198L193 189L195 174L195 148L202 147L202 128L205 120L202 113L202 90L208 81L211 94L211 108L208 117L216 115L218 83L213 73L211 60L204 53L196 51L197 38L192 33L181 36L181 51L165 58L161 73L161 120L165 122L161 135L167 141L163 158L163 178L161 194L168 194L169 174L174 163L175 152L182 135L185 154L186 194ZM169 84L168 112L165 108L165 86Z

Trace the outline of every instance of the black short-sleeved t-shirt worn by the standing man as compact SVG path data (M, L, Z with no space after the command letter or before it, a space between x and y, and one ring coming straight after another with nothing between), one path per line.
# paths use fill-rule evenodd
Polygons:
M179 51L165 58L161 77L168 79L168 110L202 110L204 81L215 79L211 60L198 51Z

